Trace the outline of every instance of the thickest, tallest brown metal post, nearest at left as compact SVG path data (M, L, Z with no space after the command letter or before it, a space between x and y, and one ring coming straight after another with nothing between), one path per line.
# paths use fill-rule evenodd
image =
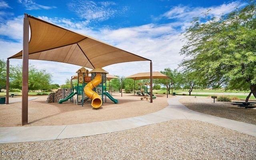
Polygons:
M28 14L23 22L23 54L22 54L22 126L28 124L28 42L29 20Z

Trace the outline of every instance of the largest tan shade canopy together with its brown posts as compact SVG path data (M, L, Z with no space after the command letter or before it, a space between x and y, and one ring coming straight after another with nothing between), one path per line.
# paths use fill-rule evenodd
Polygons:
M90 69L123 62L150 61L152 72L150 59L28 14L23 19L23 50L7 59L6 95L9 94L9 59L12 58L22 59L22 125L28 124L28 59L63 62ZM8 97L6 104L9 104Z

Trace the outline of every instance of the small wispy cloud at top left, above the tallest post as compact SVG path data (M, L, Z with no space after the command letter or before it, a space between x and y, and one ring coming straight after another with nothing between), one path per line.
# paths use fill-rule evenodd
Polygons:
M52 8L56 8L55 6L43 6L33 2L32 0L18 0L17 2L21 3L26 10L50 10Z

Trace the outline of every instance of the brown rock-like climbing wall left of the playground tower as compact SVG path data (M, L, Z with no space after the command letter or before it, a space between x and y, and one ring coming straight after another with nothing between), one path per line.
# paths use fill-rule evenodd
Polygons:
M59 99L64 99L71 93L71 89L58 89L55 93L50 93L47 98L48 103L58 102Z

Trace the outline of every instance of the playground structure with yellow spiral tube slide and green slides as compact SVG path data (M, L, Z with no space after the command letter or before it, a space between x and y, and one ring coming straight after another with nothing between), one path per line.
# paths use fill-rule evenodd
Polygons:
M96 109L103 105L104 100L106 102L106 97L115 104L118 103L117 99L114 99L106 92L107 71L102 68L96 68L89 72L87 69L82 67L81 69L78 69L76 73L78 74L78 84L76 86L72 86L72 89L69 89L69 95L59 97L58 103L62 104L63 102L70 100L75 101L76 104L82 104L83 106L84 103L91 100L92 107ZM91 76L89 76L89 73ZM55 94L53 93L53 95ZM48 97L48 99L51 98ZM56 101L57 99L55 101L48 100L48 103Z

